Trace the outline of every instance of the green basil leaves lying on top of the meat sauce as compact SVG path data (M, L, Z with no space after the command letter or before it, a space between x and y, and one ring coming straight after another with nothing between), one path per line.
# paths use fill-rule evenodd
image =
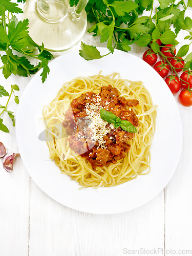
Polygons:
M115 114L111 113L110 111L100 109L100 116L104 121L108 123L113 123L113 126L116 129L120 126L121 129L126 132L137 133L136 127L131 122L127 120L121 120L120 117L117 117Z

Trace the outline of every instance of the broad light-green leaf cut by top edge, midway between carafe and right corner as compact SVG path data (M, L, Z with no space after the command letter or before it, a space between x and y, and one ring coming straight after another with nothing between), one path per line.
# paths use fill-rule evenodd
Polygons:
M124 1L114 1L110 6L113 6L115 12L118 16L123 16L126 13L129 13L135 10L138 5L130 0Z

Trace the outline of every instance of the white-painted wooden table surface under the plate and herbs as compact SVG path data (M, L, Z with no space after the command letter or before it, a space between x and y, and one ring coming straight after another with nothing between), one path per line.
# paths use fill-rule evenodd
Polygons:
M192 8L187 13L192 16ZM184 32L178 41L186 44ZM86 33L83 42L101 45L99 38ZM180 46L178 46L180 47ZM177 47L177 48L178 48ZM75 49L79 49L78 45ZM144 48L133 46L132 54L142 57ZM191 48L190 48L191 52ZM10 92L18 84L21 97L32 77L0 73L0 84ZM35 97L35 94L33 95ZM192 106L178 102L183 127L182 154L173 178L147 204L115 215L93 215L63 206L33 182L20 159L11 174L0 163L0 255L1 256L120 256L192 254ZM1 104L4 103L0 98ZM17 111L12 101L8 109ZM3 116L10 133L0 141L17 153L15 128ZM177 139L177 138L175 138ZM1 160L0 160L1 161Z

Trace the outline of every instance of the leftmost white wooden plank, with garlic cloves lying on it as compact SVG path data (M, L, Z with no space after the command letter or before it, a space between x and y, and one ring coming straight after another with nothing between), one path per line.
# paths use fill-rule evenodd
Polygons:
M15 92L19 97L26 88L31 78L21 78L11 75L7 80L0 76L0 84L10 93L10 84L18 84L20 91ZM7 100L6 97L3 100ZM1 104L4 104L1 100ZM16 115L17 104L14 97L8 104L8 110L14 111ZM2 116L1 116L2 118ZM0 131L2 141L8 152L18 153L15 129L7 113L3 114L4 123L10 132ZM30 198L30 177L18 156L15 159L13 172L7 173L0 160L0 254L9 256L28 255L29 243L29 198Z

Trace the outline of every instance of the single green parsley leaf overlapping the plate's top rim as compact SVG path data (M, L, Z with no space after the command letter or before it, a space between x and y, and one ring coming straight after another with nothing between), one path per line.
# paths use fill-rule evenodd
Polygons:
M79 55L86 60L101 58L100 52L97 50L96 47L86 45L82 41L81 41L81 50L79 50Z

